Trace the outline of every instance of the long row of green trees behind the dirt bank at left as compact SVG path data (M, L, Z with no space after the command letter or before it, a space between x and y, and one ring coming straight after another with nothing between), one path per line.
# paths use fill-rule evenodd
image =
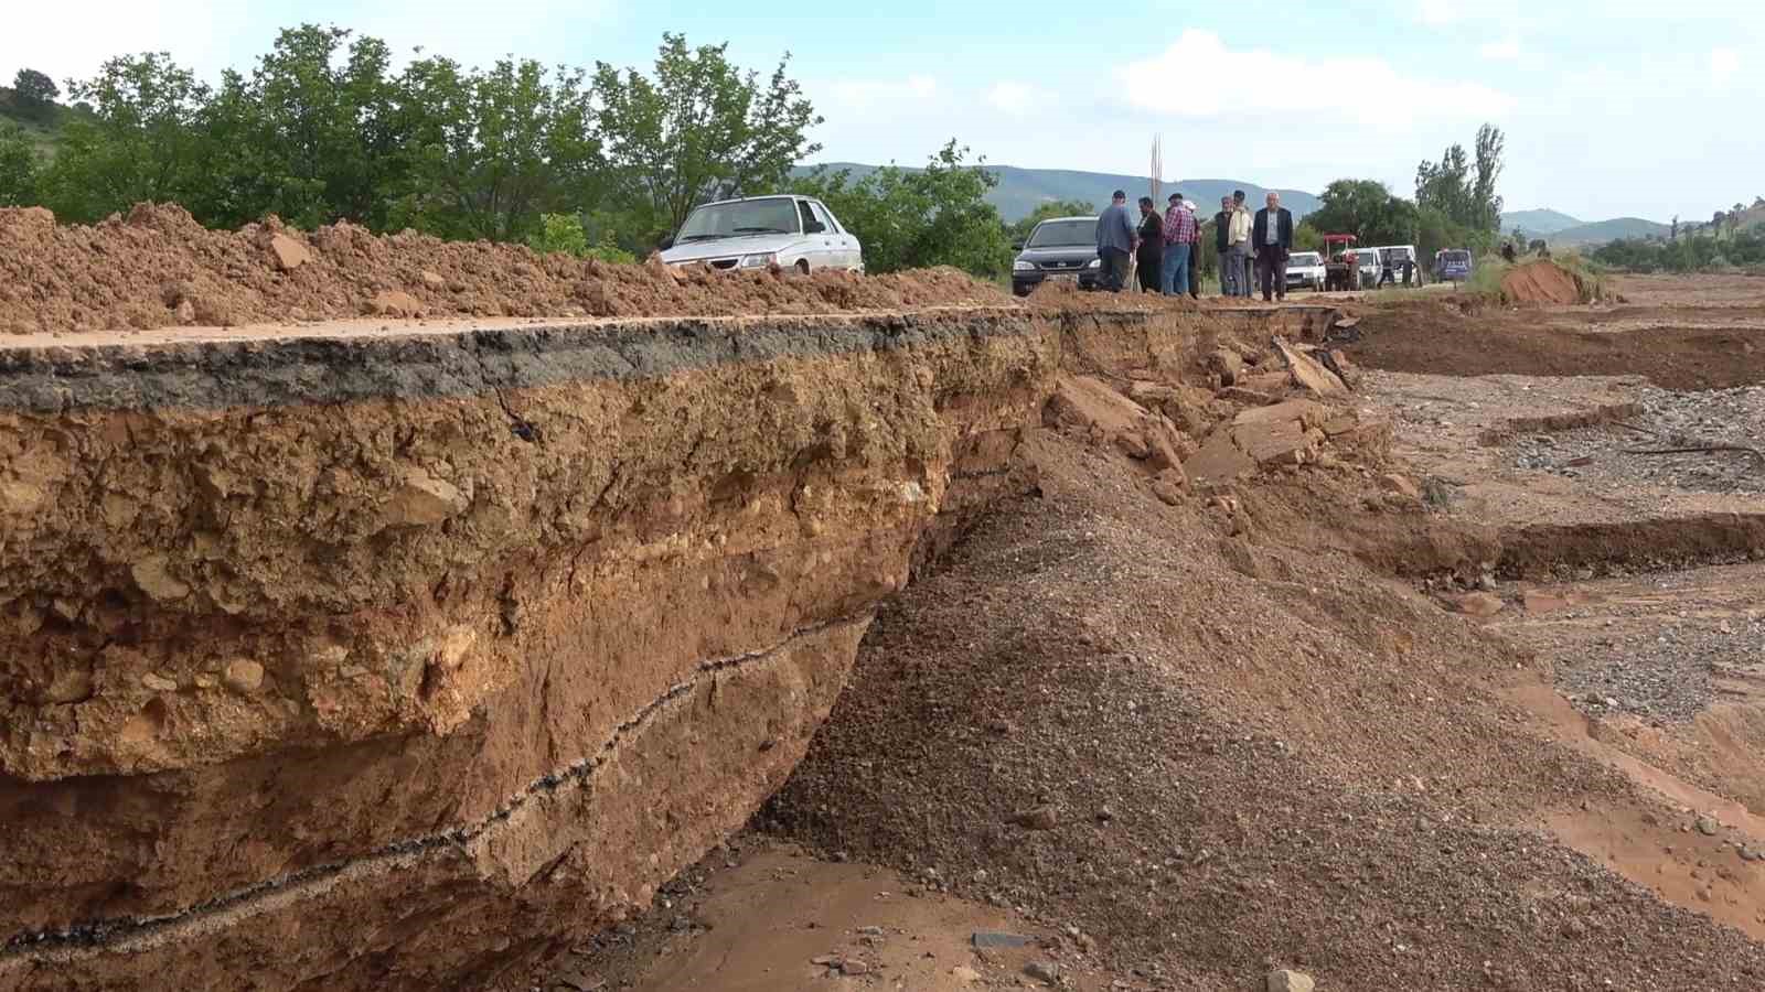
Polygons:
M597 240L648 247L704 196L777 189L819 150L787 58L762 79L669 34L653 74L443 56L394 71L379 39L316 25L217 86L162 53L122 56L69 83L83 111L64 115L51 161L0 134L0 201L86 222L155 199L217 228L277 214L492 240L581 214Z

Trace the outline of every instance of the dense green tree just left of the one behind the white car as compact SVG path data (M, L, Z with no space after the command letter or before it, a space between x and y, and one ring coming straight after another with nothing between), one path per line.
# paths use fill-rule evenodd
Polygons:
M499 60L464 72L447 58L402 78L420 122L415 184L395 215L450 238L526 240L542 214L574 214L602 175L581 71ZM420 109L417 109L420 108Z

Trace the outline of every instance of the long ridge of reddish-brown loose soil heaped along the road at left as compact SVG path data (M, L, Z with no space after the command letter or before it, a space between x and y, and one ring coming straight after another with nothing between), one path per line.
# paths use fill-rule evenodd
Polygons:
M228 327L357 318L720 316L1011 305L953 268L845 272L669 270L521 245L376 237L277 219L210 231L143 203L127 217L60 226L42 208L0 210L0 334Z

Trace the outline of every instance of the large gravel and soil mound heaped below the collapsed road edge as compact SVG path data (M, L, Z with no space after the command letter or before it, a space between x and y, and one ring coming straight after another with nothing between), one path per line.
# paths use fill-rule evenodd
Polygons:
M771 830L1077 927L1158 988L1765 969L1737 930L1513 826L1647 800L1525 729L1506 692L1548 676L1504 643L1347 552L1285 547L1253 501L1167 507L1112 452L1027 447L1040 496L879 616Z

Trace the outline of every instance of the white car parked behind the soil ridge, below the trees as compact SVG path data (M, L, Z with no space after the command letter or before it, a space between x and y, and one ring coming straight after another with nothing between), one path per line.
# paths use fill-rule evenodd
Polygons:
M865 270L863 245L808 196L748 196L695 207L662 242L667 265L711 268Z

